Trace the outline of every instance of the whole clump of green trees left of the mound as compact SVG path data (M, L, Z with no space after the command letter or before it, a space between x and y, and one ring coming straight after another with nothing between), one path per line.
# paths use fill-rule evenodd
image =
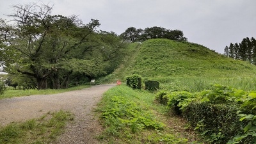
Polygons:
M126 44L98 31L99 20L51 15L46 4L13 8L12 24L0 19L0 64L10 86L67 88L113 72L124 58Z

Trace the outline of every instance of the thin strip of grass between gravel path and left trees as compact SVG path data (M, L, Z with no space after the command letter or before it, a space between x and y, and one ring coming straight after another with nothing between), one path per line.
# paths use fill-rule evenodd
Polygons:
M88 85L81 85L81 86L74 86L72 88L67 89L60 89L60 90L6 90L3 95L0 95L0 99L12 98L12 97L22 97L22 96L29 96L29 95L49 95L54 93L63 93L72 90L81 90L83 88L88 88Z

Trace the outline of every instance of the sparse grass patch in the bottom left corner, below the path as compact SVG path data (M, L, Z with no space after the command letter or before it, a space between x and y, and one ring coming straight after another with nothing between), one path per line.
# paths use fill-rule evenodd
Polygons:
M0 143L54 143L67 122L74 120L68 111L47 113L39 119L0 127Z

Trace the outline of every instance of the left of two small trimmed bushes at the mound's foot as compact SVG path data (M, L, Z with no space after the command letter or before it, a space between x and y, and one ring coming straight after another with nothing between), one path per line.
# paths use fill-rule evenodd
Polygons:
M133 89L141 89L142 77L137 74L128 76L126 77L126 84Z

